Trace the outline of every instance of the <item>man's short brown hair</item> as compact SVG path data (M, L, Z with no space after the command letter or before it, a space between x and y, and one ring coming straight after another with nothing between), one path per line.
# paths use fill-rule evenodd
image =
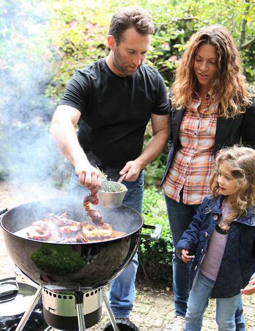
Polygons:
M132 27L142 35L152 35L155 27L149 11L139 6L120 9L111 19L109 35L112 35L116 44L119 45L123 33Z

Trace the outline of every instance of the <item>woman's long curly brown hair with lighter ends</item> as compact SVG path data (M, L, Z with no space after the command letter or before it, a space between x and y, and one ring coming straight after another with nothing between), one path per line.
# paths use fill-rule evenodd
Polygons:
M221 25L208 26L191 38L175 72L173 93L170 97L172 105L175 105L176 109L183 106L188 109L190 107L197 83L194 59L198 47L202 44L213 45L217 52L217 70L210 84L210 90L213 93L208 109L210 109L213 95L217 92L217 101L220 104L219 117L234 118L240 113L245 113L244 107L251 104L250 98L253 94L252 91L251 93L247 91L249 85L243 75L241 59L234 39L231 33Z

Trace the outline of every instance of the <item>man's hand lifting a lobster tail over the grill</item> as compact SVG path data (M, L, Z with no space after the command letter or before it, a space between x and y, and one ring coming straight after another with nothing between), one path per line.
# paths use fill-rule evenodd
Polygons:
M79 176L79 183L88 187L95 195L101 187L101 172L92 167L88 161L79 161L75 166L75 174Z

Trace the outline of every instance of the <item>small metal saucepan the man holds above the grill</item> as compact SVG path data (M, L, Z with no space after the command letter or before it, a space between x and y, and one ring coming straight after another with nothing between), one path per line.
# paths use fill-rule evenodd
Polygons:
M127 188L125 185L118 183L118 182L111 182L114 184L115 188L119 190L119 187L122 187L121 191L118 192L104 192L104 191L98 191L98 207L102 208L117 208L120 207L122 204L122 201L125 197Z

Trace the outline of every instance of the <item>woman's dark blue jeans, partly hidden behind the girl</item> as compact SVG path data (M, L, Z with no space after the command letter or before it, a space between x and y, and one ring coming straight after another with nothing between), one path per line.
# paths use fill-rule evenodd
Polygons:
M170 199L164 194L170 232L174 247L182 238L184 231L189 228L193 216L195 216L199 205L186 205L182 202L183 191L180 192L180 202ZM175 248L174 248L175 250ZM189 298L189 274L192 261L185 263L173 255L173 292L175 314L185 316ZM236 312L236 331L245 331L245 319L243 316L243 301Z

